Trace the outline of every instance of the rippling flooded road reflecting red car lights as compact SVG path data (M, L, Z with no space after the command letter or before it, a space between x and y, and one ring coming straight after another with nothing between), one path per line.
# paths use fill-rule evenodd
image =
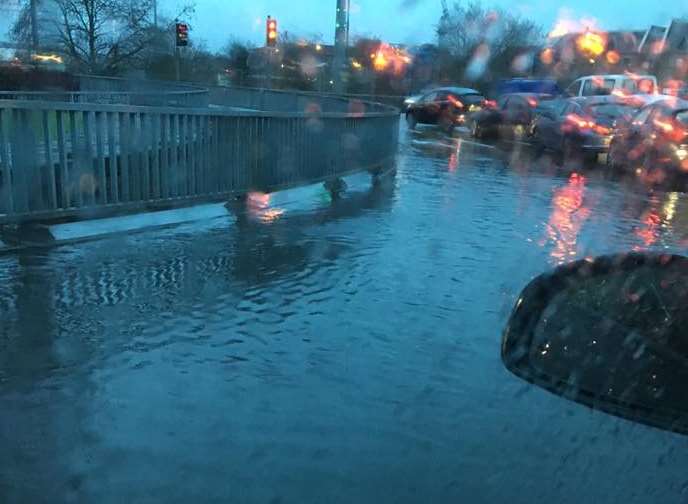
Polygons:
M688 198L434 130L395 179L0 256L0 501L688 502L688 438L502 366L561 262L685 252Z

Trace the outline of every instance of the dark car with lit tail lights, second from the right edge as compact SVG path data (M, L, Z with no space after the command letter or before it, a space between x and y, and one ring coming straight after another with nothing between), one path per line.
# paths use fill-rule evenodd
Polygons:
M531 136L542 149L592 161L609 149L617 122L628 121L637 110L613 96L555 100L538 110Z

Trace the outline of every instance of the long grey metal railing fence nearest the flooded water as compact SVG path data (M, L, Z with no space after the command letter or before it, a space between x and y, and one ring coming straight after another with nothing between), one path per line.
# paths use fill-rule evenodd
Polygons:
M244 103L223 93L222 107ZM393 161L392 109L277 92L262 100L285 111L0 100L0 223L222 201Z

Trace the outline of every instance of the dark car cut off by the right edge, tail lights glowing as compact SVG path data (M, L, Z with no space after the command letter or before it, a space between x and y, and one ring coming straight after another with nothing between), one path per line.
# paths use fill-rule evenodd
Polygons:
M620 123L607 162L617 170L660 170L665 177L688 172L688 101L660 100Z

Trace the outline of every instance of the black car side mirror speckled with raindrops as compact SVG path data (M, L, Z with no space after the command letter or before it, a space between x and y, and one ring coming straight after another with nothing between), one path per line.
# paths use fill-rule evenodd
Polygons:
M521 293L502 339L516 376L594 409L688 434L688 259L603 256Z

